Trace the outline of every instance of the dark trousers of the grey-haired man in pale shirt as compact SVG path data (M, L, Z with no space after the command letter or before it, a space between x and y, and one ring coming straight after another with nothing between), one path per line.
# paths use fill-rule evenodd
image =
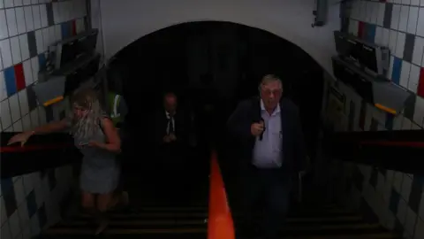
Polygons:
M255 166L250 166L243 174L239 208L243 220L238 239L249 238L254 231L260 233L260 238L281 238L278 235L289 208L292 177L281 169Z

